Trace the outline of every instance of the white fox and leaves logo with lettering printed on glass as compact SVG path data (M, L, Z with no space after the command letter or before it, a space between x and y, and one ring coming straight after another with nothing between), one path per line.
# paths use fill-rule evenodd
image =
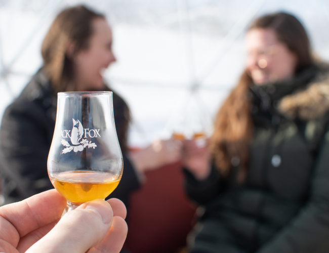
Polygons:
M80 120L78 119L75 120L74 118L72 118L72 120L73 120L72 130L62 130L61 136L62 138L70 138L72 145L75 146L71 146L67 141L62 139L61 140L62 145L66 147L62 150L62 154L71 152L72 150L74 152L83 151L86 147L95 149L97 147L95 143L92 143L91 141L88 142L87 139L83 139L82 141L80 140L81 138L101 137L99 134L99 129L91 129L91 130L89 130L89 128L84 129Z

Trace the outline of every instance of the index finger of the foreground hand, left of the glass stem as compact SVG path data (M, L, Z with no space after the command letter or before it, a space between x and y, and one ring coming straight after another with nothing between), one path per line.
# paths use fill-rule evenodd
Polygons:
M7 229L10 229L12 233L15 229L19 237L23 237L39 227L60 219L65 206L65 198L53 189L0 207L0 216L13 226ZM0 239L3 239L2 234Z

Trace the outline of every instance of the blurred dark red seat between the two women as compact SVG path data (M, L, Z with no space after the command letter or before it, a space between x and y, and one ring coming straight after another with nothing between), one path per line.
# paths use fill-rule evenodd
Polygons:
M147 172L145 184L131 196L125 246L132 253L175 252L186 243L194 213L180 163Z

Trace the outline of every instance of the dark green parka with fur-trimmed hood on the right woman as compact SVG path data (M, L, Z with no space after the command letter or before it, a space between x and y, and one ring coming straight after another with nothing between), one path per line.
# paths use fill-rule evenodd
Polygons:
M203 206L190 252L329 252L329 76L311 66L290 81L252 86L255 133L248 173L213 166L186 191ZM233 162L234 163L234 162Z

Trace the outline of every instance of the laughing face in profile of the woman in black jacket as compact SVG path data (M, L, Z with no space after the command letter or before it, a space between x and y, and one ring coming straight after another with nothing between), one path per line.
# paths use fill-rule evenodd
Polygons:
M93 35L86 50L73 56L75 91L100 91L104 89L102 72L115 57L112 53L112 31L106 20L92 22Z

